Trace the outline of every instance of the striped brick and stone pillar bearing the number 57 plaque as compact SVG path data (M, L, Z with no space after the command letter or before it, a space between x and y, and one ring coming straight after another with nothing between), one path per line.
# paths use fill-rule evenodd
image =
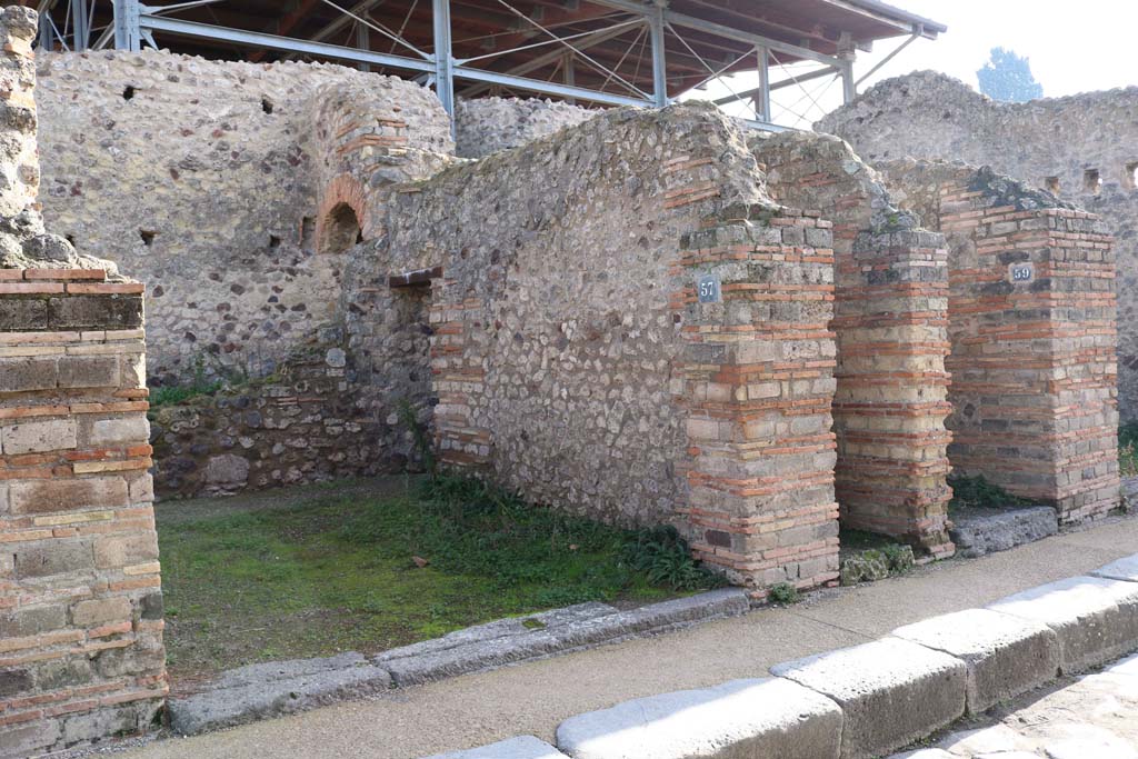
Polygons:
M691 455L681 513L699 558L756 597L838 576L831 241L826 221L734 207L687 237L677 267L691 282L673 298ZM721 302L699 302L703 275Z

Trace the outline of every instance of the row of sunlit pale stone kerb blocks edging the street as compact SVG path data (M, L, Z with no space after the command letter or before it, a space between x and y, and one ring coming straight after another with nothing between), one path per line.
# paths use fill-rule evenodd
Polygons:
M666 693L578 715L558 727L556 744L560 756L570 759L869 759L926 737L966 712L1046 685L1059 673L1133 650L1138 554L984 609L934 617L877 641L776 665L770 668L774 678ZM803 693L814 694L814 706ZM807 745L807 753L795 752ZM927 749L912 756L926 754L945 756Z

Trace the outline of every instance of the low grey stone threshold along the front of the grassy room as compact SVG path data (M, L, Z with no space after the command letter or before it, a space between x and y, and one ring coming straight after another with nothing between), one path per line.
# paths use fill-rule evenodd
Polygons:
M500 619L440 638L360 653L250 665L224 673L207 691L170 699L171 728L195 735L257 719L501 667L527 659L617 643L750 610L745 591L725 588L620 611L582 603L529 617ZM522 759L523 754L518 754ZM537 756L537 754L535 754ZM558 754L553 754L558 756Z

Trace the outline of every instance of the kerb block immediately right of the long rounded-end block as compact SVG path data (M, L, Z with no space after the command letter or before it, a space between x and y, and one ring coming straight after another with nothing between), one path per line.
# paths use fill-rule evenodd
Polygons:
M787 661L770 671L838 702L844 715L842 759L888 753L964 713L966 665L899 638Z

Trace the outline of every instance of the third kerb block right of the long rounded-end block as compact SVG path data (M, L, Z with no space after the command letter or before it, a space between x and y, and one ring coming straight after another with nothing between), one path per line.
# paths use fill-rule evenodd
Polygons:
M1055 630L1063 674L1083 671L1138 647L1138 584L1071 577L1000 599L988 609Z

